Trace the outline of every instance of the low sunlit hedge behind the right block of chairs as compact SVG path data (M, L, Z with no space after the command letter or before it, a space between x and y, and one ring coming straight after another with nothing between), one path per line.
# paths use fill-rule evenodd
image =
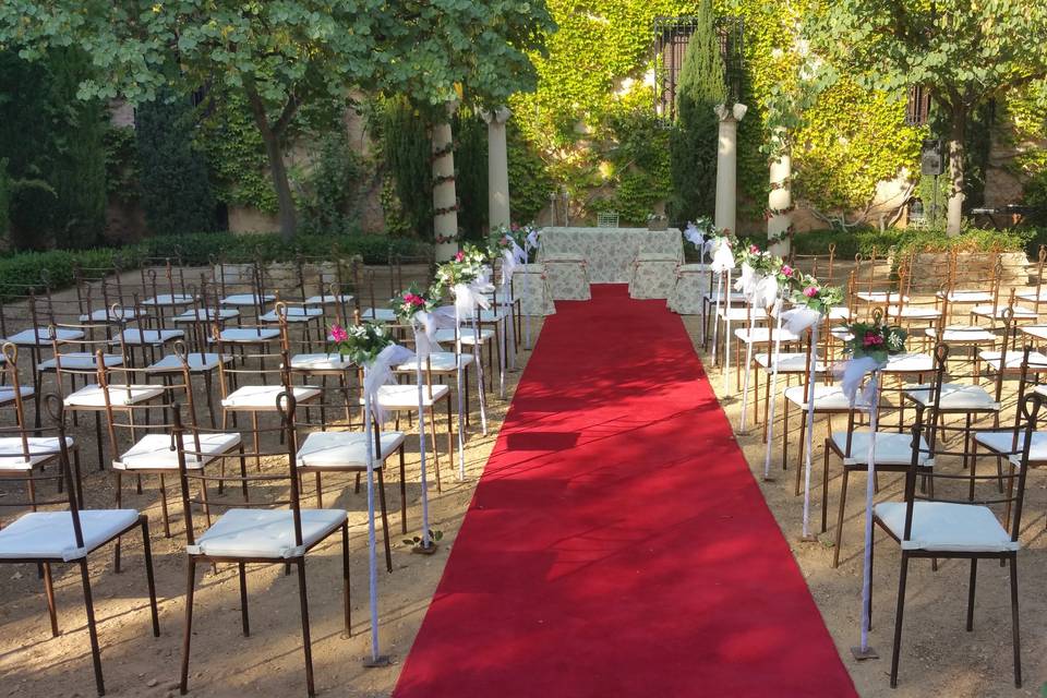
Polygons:
M793 248L796 254L827 254L835 243L837 258L850 260L854 255L869 256L876 249L883 256L890 248L899 251L944 252L959 248L967 252L1014 252L1024 250L1035 257L1040 244L1047 243L1047 228L1021 228L1010 230L970 229L956 237L943 230L904 230L891 228L849 230L811 230L796 233Z

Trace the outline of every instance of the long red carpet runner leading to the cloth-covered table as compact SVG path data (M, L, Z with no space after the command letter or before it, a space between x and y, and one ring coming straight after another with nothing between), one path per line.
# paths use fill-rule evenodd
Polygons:
M395 696L854 696L679 317L556 308Z

